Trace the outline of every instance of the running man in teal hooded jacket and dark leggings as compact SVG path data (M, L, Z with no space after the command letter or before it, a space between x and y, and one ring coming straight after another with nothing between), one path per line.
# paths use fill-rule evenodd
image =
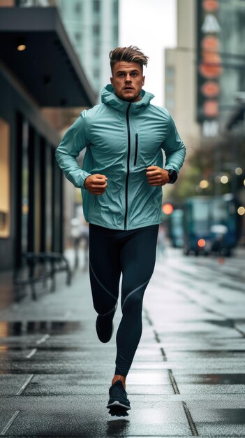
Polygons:
M57 148L66 178L82 189L89 222L89 273L96 331L112 337L121 284L122 318L107 408L131 409L126 376L142 334L142 300L154 271L162 186L175 183L186 153L165 108L142 90L148 57L133 45L110 52L102 103L84 110ZM87 148L82 169L77 157ZM163 153L165 166L163 168Z

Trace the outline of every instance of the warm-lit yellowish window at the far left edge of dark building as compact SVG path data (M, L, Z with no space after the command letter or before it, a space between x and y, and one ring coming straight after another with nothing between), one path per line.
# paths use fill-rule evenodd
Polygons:
M10 236L10 125L0 118L0 237Z

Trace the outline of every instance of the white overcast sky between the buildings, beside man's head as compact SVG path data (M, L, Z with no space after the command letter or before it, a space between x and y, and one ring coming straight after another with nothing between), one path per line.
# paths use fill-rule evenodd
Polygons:
M144 90L164 103L164 48L176 45L176 0L119 0L119 45L138 45L149 56Z

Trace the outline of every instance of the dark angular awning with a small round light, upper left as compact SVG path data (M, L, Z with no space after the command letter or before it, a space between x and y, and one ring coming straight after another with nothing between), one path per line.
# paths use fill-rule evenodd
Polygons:
M57 8L0 8L0 59L40 106L96 102Z

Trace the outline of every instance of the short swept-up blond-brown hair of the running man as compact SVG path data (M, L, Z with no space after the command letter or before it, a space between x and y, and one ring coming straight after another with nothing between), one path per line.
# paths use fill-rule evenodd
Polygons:
M116 62L137 62L140 64L143 70L143 66L147 67L149 57L144 55L144 53L136 46L129 45L128 47L117 47L111 50L109 53L110 57L110 68L113 70L114 64Z

